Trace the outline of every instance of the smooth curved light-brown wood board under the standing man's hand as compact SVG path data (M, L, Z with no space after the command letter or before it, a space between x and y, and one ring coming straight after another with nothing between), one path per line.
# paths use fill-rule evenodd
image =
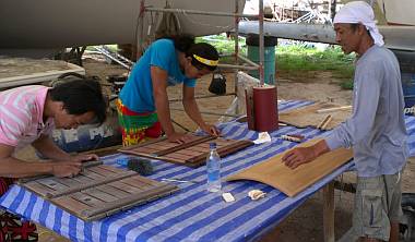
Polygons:
M309 141L300 146L307 147L316 142L317 140ZM226 180L253 180L269 184L288 196L295 196L353 157L352 149L339 148L293 170L281 160L285 153L233 174Z

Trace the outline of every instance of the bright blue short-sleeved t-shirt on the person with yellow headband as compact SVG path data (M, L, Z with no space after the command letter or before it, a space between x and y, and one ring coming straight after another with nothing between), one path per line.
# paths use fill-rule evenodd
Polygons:
M122 104L135 112L155 111L151 66L158 66L168 73L168 85L183 83L194 87L195 80L188 78L179 66L178 52L171 39L154 41L135 63L119 98Z

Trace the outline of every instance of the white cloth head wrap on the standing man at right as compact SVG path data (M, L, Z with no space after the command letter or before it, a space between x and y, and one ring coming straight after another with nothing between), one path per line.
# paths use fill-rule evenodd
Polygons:
M353 1L345 4L334 16L334 24L358 24L361 23L370 32L375 44L383 46L383 36L379 33L375 23L375 14L371 7L364 1Z

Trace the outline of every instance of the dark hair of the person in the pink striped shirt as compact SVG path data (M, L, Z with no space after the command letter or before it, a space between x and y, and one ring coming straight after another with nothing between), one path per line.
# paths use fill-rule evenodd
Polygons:
M95 121L103 123L106 119L107 102L100 84L92 78L73 80L58 84L49 90L54 101L62 101L69 114L95 113Z

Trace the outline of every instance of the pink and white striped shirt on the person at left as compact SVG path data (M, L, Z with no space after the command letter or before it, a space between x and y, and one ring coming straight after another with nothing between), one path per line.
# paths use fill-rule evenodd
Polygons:
M51 132L52 118L43 118L48 89L33 85L0 93L0 144L22 148Z

